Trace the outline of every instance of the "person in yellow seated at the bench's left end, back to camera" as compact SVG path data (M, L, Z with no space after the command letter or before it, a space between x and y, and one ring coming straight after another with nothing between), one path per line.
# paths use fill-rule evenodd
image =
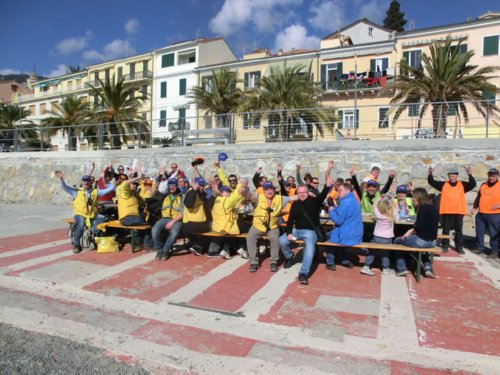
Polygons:
M136 172L128 180L123 181L116 188L116 198L118 202L118 220L125 226L147 225L144 218L143 209L146 207L146 201L138 192L139 181L142 179L142 173ZM150 230L139 231L139 241L146 247L153 246Z

